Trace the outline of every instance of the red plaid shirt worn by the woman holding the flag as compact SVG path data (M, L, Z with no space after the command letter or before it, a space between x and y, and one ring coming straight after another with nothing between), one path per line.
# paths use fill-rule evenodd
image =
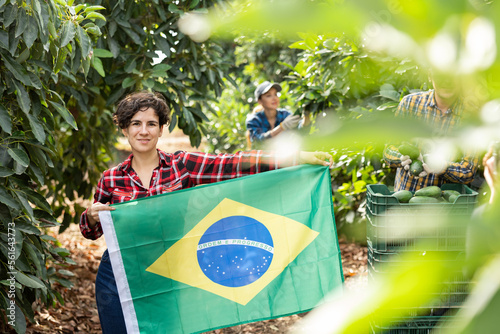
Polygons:
M214 155L184 151L172 154L158 150L158 154L159 165L153 170L149 189L142 185L132 168L131 154L124 162L103 173L94 203L121 203L297 164L295 155L288 161L278 161L274 155L262 151ZM89 226L87 210L80 218L80 231L92 240L103 234L100 222L93 228Z

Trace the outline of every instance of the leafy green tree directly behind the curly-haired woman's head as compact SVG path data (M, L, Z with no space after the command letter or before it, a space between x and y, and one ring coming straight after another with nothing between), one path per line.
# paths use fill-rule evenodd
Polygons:
M203 12L223 1L95 0L99 15L87 23L96 32L95 49L86 72L64 76L58 92L80 130L55 129L59 159L51 175L54 210L63 217L63 229L77 223L101 172L113 160L116 132L112 112L116 102L136 90L164 95L171 110L169 130L178 127L198 146L206 133L210 103L233 81L232 44L198 43L179 31L178 20L188 11ZM101 8L99 7L99 8ZM70 32L69 40L78 38ZM225 81L224 81L225 80ZM68 201L72 204L68 205Z

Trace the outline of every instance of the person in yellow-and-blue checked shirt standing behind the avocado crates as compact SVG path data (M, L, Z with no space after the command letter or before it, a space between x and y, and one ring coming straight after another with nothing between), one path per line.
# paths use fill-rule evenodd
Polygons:
M464 103L458 83L448 76L431 75L433 89L405 96L396 110L396 116L414 117L433 126L436 136L445 136L457 126L464 111ZM440 170L431 170L420 155L423 171L419 175L410 172L412 160L402 155L396 146L387 145L384 160L392 168L397 168L394 191L415 191L427 186L441 186L443 183L469 184L476 174L479 159L472 153L461 157L460 161L449 161Z

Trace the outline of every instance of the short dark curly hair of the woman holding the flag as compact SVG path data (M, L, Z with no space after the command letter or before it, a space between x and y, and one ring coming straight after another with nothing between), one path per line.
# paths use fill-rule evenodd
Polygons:
M121 100L113 113L113 121L120 129L125 129L137 112L148 108L155 111L160 126L170 124L170 108L167 101L160 93L148 91L135 92Z

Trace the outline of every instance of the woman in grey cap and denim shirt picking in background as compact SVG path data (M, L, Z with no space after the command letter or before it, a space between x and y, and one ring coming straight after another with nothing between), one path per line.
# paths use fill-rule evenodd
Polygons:
M279 84L269 81L264 81L255 89L255 100L259 106L248 115L246 120L248 137L252 146L255 144L262 146L266 140L276 137L283 131L309 125L309 114L301 118L279 107L281 89Z

